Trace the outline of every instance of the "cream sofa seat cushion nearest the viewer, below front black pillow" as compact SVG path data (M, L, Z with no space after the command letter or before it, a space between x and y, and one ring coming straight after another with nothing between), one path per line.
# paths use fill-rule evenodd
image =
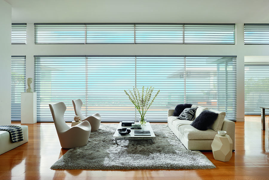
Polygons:
M215 135L218 134L212 129L207 129L206 131L200 131L191 125L181 125L178 127L178 131L188 140L204 140L210 139L213 140Z

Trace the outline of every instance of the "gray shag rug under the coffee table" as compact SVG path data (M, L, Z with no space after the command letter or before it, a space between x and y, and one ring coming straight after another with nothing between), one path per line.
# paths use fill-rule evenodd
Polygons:
M100 125L91 132L88 144L68 150L51 169L211 169L214 164L199 151L187 150L167 125L151 125L155 134L150 140L113 138L116 124Z

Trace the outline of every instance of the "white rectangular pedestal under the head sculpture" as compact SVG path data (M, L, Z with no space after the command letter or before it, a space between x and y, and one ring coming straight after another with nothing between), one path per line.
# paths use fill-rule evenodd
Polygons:
M21 93L21 124L36 123L36 93Z

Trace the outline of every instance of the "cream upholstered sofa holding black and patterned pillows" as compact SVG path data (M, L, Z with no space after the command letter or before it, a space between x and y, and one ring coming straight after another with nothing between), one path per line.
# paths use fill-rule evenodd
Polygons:
M211 144L218 132L210 128L208 128L206 131L200 131L190 125L193 121L179 120L177 117L172 116L173 112L174 109L168 110L168 127L172 130L176 137L178 137L183 145L189 150L211 150ZM196 111L196 113L197 112L198 111ZM195 118L199 115L196 113ZM224 119L221 130L227 131L227 135L229 135L233 140L234 150L235 123L233 121Z

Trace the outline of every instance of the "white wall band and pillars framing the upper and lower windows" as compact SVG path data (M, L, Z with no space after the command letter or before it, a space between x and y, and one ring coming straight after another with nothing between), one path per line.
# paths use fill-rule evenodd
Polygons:
M268 45L244 45L244 24L236 24L236 45L198 44L34 44L27 23L27 44L12 45L12 55L26 55L26 78L34 77L33 55L237 55L237 121L244 121L244 56L269 55Z

